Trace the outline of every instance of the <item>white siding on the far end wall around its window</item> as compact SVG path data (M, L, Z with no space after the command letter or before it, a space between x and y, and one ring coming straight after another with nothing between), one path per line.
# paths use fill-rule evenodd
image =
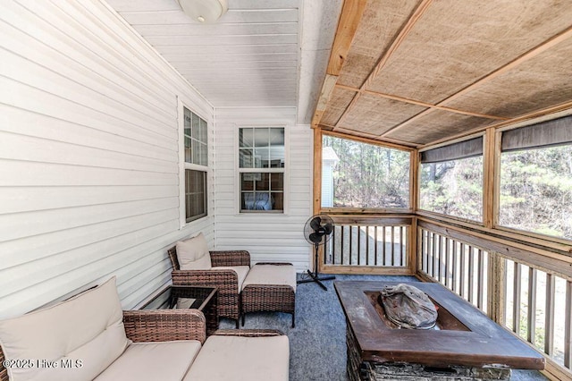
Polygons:
M290 262L303 271L309 258L303 232L311 212L313 143L309 126L295 121L294 107L214 109L215 232L219 250L248 250L253 263ZM284 214L240 214L236 131L269 125L287 130L288 207Z

